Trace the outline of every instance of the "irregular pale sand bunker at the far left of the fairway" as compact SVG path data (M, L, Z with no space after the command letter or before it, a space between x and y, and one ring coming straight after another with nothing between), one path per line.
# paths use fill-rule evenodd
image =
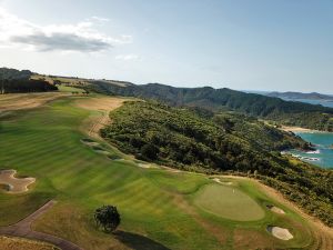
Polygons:
M28 186L36 181L34 178L16 178L16 170L0 170L0 184L9 193L20 193L28 191Z

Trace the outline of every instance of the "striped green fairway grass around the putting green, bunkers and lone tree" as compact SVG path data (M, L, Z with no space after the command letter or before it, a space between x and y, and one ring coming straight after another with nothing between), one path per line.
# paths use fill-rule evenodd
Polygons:
M54 198L58 204L34 227L85 249L133 246L221 249L221 244L225 249L231 246L238 249L302 248L315 243L307 224L291 210L285 217L266 211L264 219L255 222L225 220L191 206L195 192L211 182L206 177L142 169L134 162L110 161L95 153L80 142L84 134L79 127L90 112L73 107L73 99L1 118L0 167L37 178L28 193L0 193L1 226L22 219ZM240 181L239 188L261 206L274 202L250 181ZM103 203L117 204L121 211L121 232L115 237L94 228L92 212ZM294 226L299 230L293 231L293 240L284 242L265 232L269 223ZM254 236L256 241L249 241L244 236Z

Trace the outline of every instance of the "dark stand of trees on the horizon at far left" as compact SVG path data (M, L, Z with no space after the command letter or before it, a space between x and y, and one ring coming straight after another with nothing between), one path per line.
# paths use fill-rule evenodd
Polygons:
M29 70L0 68L0 93L46 92L58 90L43 79L32 80Z

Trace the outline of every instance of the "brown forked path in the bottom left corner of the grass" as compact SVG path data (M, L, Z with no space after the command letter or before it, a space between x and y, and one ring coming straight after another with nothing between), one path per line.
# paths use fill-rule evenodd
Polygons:
M46 211L48 211L52 206L56 203L54 200L49 201L46 203L43 207L38 209L36 212L31 213L29 217L26 219L19 221L16 224L9 226L9 227L1 227L0 228L0 234L2 236L10 236L10 237L21 237L21 238L27 238L27 239L32 239L32 240L40 240L44 241L48 243L51 243L62 250L83 250L79 246L48 234L43 232L37 232L31 229L31 223L37 220L41 214L43 214Z

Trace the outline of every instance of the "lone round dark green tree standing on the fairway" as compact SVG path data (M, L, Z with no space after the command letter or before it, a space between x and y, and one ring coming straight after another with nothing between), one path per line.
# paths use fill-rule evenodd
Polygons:
M94 211L98 227L103 227L105 232L113 232L120 224L120 214L114 206L103 206Z

